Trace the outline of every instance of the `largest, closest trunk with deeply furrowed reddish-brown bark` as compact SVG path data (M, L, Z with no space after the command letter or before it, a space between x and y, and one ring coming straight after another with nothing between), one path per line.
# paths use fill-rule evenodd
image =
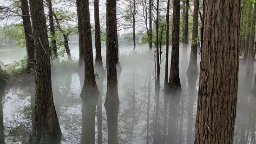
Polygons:
M218 7L216 9L215 7ZM241 0L205 0L194 144L232 144Z

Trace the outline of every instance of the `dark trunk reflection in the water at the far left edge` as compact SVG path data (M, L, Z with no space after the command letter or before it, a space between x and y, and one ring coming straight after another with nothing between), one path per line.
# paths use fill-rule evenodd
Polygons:
M5 144L5 137L4 137L4 116L3 116L3 96L5 90L1 86L0 87L0 144Z

